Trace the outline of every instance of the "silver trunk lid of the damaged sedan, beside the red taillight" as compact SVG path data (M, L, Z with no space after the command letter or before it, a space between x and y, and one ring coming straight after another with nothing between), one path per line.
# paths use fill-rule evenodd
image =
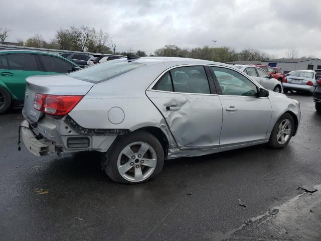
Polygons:
M93 83L81 81L68 75L31 76L26 79L25 114L38 122L44 112L35 109L35 94L85 95Z

